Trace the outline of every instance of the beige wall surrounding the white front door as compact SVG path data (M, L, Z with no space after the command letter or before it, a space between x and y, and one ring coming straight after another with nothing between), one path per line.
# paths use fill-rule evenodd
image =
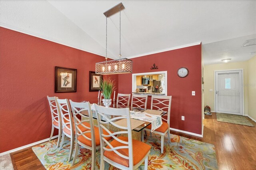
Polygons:
M204 106L214 111L214 71L244 69L244 84L248 84L248 61L204 65ZM212 89L212 92L209 90ZM244 86L244 115L248 114L248 86Z

